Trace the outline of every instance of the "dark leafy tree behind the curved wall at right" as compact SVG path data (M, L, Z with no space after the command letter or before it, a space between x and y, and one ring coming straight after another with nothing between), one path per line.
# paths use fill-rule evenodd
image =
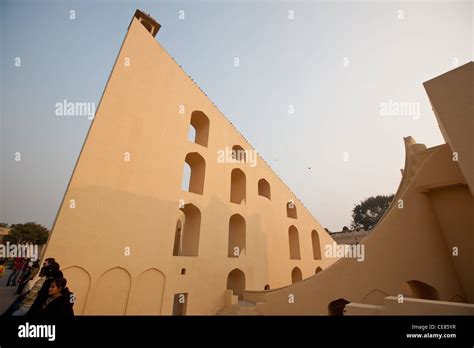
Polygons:
M393 197L393 194L388 196L378 195L361 201L352 210L351 227L353 229L362 228L365 231L374 228L387 211Z

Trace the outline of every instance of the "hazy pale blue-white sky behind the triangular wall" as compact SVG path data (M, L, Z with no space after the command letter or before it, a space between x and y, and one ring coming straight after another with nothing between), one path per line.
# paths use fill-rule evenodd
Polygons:
M99 102L137 8L332 231L396 191L404 136L444 143L422 83L473 60L473 1L0 0L0 222L52 226L91 123L55 105Z

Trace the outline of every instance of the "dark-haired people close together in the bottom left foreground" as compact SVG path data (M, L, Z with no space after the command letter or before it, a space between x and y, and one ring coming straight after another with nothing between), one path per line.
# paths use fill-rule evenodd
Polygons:
M7 280L7 286L16 285L18 274L13 275L15 266ZM66 286L67 280L63 277L59 263L53 258L48 258L39 273L36 273L34 264L30 265L30 270L21 273L17 289L18 297L3 316L26 316L46 320L60 320L74 316L75 296ZM12 275L13 278L10 279Z

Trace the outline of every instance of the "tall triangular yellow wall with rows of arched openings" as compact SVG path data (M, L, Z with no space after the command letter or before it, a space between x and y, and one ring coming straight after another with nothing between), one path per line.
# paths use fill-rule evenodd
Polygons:
M66 269L78 314L215 314L228 288L281 287L295 267L308 278L335 261L313 252L314 238L332 238L157 28L133 17L45 252Z

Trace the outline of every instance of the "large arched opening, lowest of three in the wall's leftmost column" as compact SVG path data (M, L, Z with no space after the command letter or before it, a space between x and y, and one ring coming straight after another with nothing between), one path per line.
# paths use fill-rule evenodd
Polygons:
M201 229L201 211L191 203L185 204L180 209L184 213L184 221L180 233L180 248L177 248L178 254L175 256L198 256L199 250L199 234ZM178 224L176 226L176 234L178 234ZM176 243L175 237L175 243ZM175 244L176 246L176 244Z

